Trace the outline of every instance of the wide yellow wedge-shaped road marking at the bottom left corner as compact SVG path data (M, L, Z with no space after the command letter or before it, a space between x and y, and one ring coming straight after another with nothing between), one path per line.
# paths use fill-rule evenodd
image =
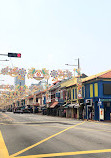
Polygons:
M0 131L0 158L9 158L9 153Z

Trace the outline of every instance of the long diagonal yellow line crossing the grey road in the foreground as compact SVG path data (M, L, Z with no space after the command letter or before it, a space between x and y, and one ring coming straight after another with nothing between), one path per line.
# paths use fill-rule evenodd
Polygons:
M40 144L42 144L42 143L48 141L49 139L54 138L54 137L56 137L57 135L59 135L59 134L65 132L65 131L67 131L67 130L69 130L69 129L71 129L71 128L74 128L74 127L76 127L76 126L79 126L79 125L81 125L81 124L83 124L83 123L84 123L84 122L81 122L81 123L78 123L78 124L76 124L76 125L70 126L70 127L66 128L66 129L64 129L64 130L62 130L62 131L60 131L60 132L58 132L58 133L56 133L56 134L54 134L54 135L51 135L51 136L49 136L49 137L47 137L47 138L45 138L45 139L43 139L43 140L41 140L41 141L39 141L39 142L33 144L33 145L31 145L31 146L29 146L29 147L27 147L27 148L25 148L25 149L23 149L23 150L21 150L21 151L15 153L15 154L12 154L11 156L12 156L12 157L15 157L15 156L17 156L17 155L20 155L20 154L22 154L22 153L24 153L24 152L26 152L26 151L28 151L28 150L30 150L30 149L36 147L36 146L38 146L38 145L40 145Z

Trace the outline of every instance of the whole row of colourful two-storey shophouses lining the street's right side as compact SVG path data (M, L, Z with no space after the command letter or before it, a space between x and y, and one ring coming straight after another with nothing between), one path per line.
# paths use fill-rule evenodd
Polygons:
M111 70L81 76L81 80L81 98L78 98L77 78L72 78L57 81L9 108L27 108L33 113L74 119L111 120Z

